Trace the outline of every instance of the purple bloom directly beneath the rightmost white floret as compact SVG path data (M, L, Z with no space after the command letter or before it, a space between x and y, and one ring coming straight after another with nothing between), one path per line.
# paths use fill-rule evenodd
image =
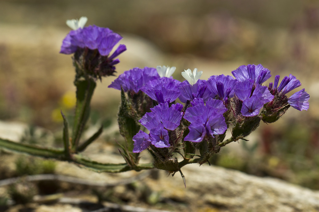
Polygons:
M193 85L190 85L189 82L185 80L179 83L177 87L181 92L179 99L184 103L187 102L187 100L192 101L195 98L202 98L206 101L211 95L207 89L205 80L197 80Z

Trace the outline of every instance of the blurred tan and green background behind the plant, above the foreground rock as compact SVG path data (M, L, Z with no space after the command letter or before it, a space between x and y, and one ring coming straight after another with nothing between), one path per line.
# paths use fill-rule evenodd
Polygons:
M133 67L198 68L202 79L231 75L240 65L259 64L274 76L293 74L310 94L310 109L289 109L274 124L261 124L249 142L225 148L211 163L258 176L273 176L319 189L319 1L0 1L0 119L53 131L59 140L62 108L74 107L71 56L59 54L65 21L88 17L87 25L123 36L128 50L116 70ZM116 124L120 92L98 83L91 124ZM291 95L293 92L289 93ZM21 140L35 140L33 131ZM1 136L1 135L0 135ZM118 137L118 134L115 133ZM105 139L112 140L112 136ZM57 144L59 145L59 144ZM242 148L237 148L241 146Z

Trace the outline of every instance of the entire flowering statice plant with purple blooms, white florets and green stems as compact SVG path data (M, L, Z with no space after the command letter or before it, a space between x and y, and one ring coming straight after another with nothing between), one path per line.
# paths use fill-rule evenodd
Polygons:
M270 70L261 64L242 65L231 72L233 76L221 74L208 79L200 79L203 71L197 68L187 69L181 72L184 81L173 78L176 67L134 67L108 86L121 91L118 124L125 143L119 144L119 151L125 163L86 159L79 153L96 140L103 129L101 127L87 140L81 138L89 118L93 91L102 77L115 75L115 66L120 62L117 57L126 50L123 44L116 46L122 39L118 33L96 25L85 27L86 22L86 17L66 22L72 30L63 39L60 51L72 54L77 88L70 136L68 120L61 111L63 150L5 139L0 139L0 147L66 160L98 172L158 168L182 174L183 166L208 162L221 147L244 139L256 130L260 121L275 122L290 106L297 110L309 108L305 89L287 96L301 86L295 76L285 76L279 83L277 75L274 82L267 84ZM139 163L139 154L143 151L151 154L150 163ZM185 182L183 174L182 177Z

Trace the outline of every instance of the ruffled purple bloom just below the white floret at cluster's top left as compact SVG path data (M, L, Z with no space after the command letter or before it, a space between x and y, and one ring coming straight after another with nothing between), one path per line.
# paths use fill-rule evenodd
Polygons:
M149 81L141 90L159 103L164 103L168 99L170 102L174 102L180 95L180 91L177 88L178 83L178 80L161 77Z

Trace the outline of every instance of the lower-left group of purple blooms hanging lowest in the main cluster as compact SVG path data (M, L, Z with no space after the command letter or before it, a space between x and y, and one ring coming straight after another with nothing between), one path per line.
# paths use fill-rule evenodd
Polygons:
M169 107L168 102L165 102L152 108L152 112L146 113L139 122L150 133L139 131L133 137L133 152L142 152L151 144L158 148L169 147L168 130L173 131L179 126L182 108L182 104L177 103Z

